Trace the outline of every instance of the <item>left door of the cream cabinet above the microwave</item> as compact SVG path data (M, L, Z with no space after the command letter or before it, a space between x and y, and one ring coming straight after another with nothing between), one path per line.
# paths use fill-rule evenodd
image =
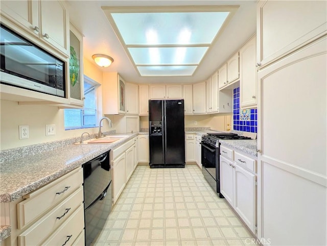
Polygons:
M1 1L1 14L15 22L19 27L39 36L39 3L38 1Z

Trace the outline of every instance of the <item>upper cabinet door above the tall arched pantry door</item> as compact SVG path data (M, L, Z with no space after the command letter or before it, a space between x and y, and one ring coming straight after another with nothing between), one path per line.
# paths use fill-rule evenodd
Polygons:
M264 67L325 34L326 8L326 1L260 1L258 66Z

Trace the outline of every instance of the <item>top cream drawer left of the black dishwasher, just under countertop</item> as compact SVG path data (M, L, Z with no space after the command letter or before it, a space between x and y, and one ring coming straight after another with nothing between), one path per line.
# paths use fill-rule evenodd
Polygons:
M83 169L78 168L48 185L24 195L23 198L26 200L17 204L17 228L21 229L41 216L46 210L80 187L82 183Z

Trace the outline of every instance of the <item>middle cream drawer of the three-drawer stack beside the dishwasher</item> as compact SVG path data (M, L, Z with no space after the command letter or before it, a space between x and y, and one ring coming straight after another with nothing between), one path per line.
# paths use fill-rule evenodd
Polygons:
M28 230L18 236L18 245L39 245L51 235L63 222L83 204L83 187L81 186L66 200L38 220Z

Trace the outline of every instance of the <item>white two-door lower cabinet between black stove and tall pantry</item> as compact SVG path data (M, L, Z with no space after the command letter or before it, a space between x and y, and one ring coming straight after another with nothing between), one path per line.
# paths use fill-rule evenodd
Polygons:
M229 151L231 159L225 157L227 154L220 155L220 191L248 228L256 234L256 174L233 161L233 151ZM235 152L235 155L238 154ZM253 162L256 164L254 159Z

